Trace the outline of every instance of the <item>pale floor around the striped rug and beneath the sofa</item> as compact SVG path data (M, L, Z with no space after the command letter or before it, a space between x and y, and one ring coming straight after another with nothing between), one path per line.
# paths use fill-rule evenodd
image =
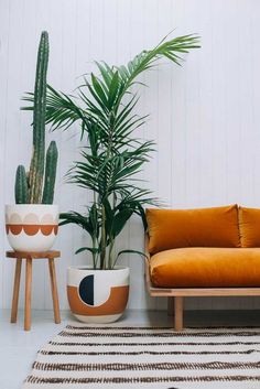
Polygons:
M20 389L31 370L37 349L57 334L68 321L69 312L62 312L62 323L53 322L52 311L32 311L32 329L23 331L23 312L18 323L10 324L8 310L0 315L0 388ZM259 326L260 311L187 311L185 326ZM173 317L165 311L128 311L116 325L172 326ZM14 368L15 367L15 368Z

